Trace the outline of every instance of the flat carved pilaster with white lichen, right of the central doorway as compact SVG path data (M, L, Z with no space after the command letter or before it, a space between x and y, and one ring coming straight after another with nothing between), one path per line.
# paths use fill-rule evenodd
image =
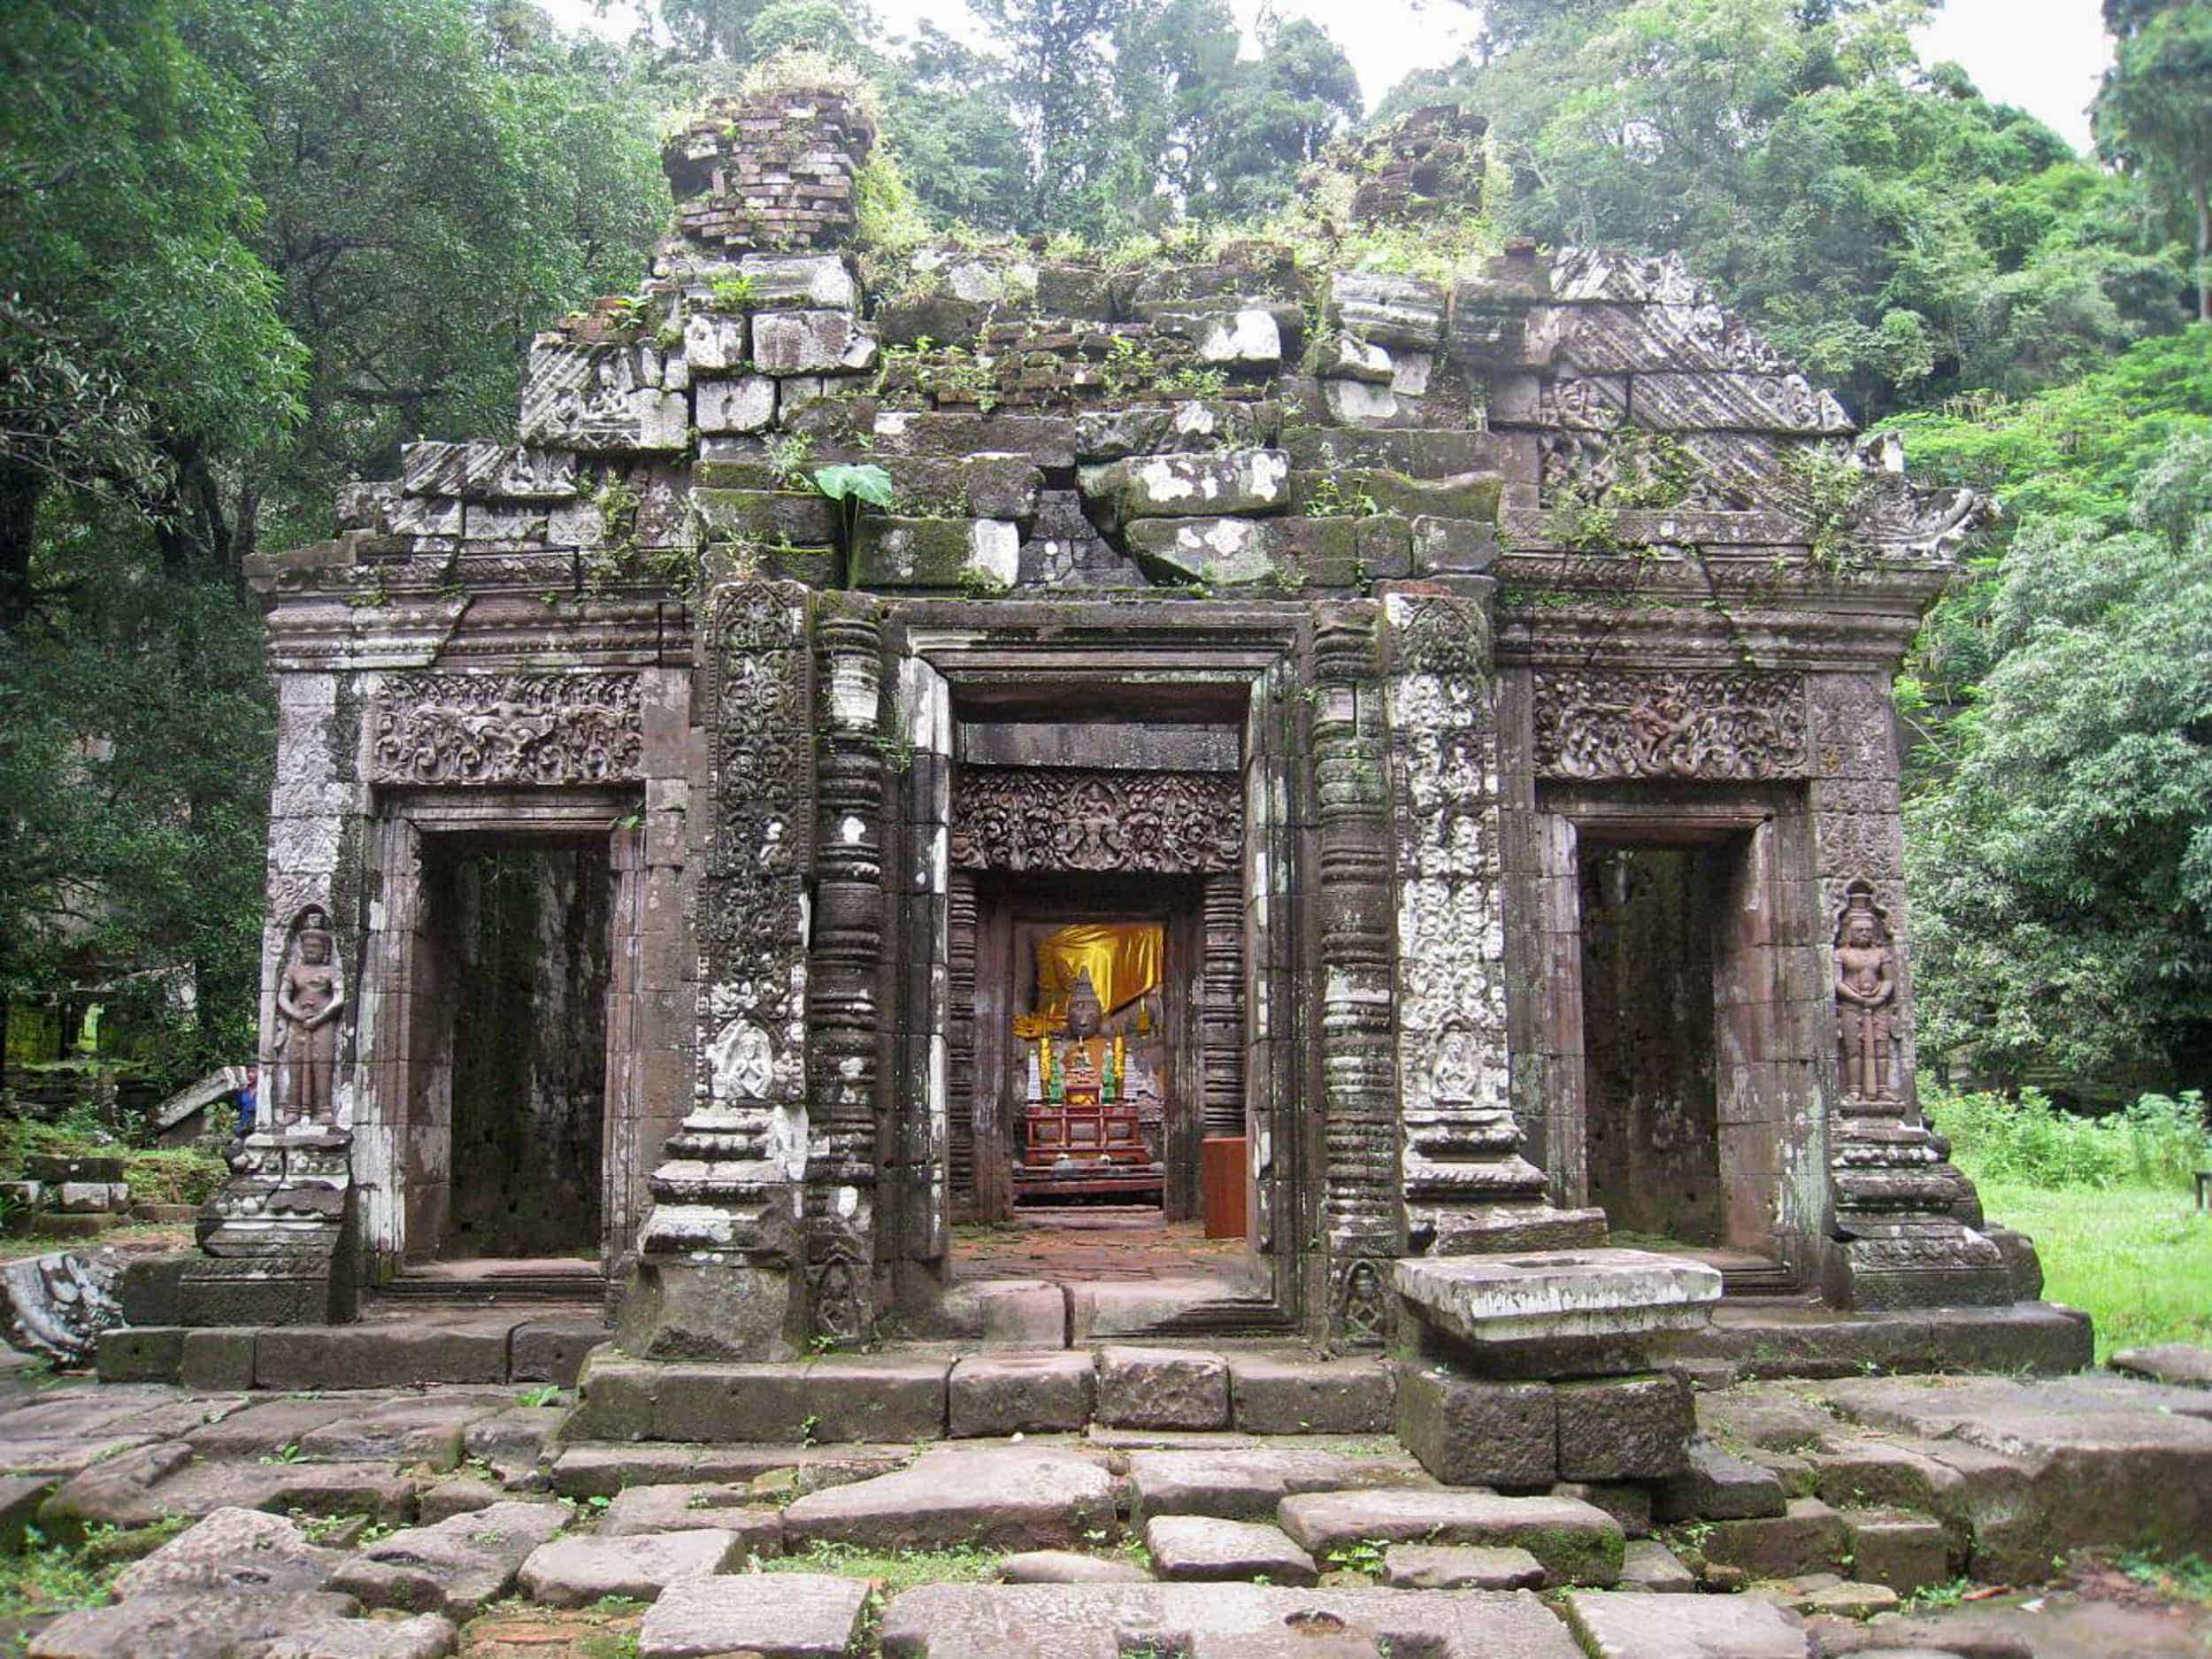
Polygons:
M1400 1168L1413 1254L1604 1241L1599 1217L1551 1206L1513 1115L1486 599L1385 599Z

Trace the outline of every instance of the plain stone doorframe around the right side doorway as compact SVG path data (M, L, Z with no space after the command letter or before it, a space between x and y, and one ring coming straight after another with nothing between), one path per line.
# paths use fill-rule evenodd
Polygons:
M1588 1186L1584 1075L1584 847L1728 847L1725 916L1714 920L1714 1082L1723 1203L1763 1212L1772 1252L1818 1283L1832 1230L1827 1091L1834 1048L1827 951L1803 783L1559 783L1535 790L1533 852L1546 894L1548 973L1517 987L1528 1024L1551 1033L1537 1157L1555 1203Z

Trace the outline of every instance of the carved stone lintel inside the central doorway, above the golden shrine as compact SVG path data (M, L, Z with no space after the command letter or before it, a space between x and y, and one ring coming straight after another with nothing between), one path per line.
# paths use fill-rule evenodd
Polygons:
M962 768L956 869L1097 869L1210 876L1243 847L1239 779L1208 772Z

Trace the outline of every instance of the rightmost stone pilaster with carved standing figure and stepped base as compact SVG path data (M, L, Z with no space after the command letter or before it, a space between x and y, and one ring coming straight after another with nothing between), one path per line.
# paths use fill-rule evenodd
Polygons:
M1827 1296L1840 1307L1982 1307L2013 1301L2013 1272L1982 1232L1973 1183L1920 1119L1913 1088L1905 830L1889 681L1814 675L1812 832L1834 1020ZM1874 1004L1843 984L1874 987ZM1849 1053L1845 1053L1849 1048ZM1863 1064L1871 1057L1871 1064ZM2017 1250L2033 1250L2024 1239Z

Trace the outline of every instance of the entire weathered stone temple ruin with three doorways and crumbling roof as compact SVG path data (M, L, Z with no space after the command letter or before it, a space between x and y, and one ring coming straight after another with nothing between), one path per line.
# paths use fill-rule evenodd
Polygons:
M679 133L520 442L257 560L274 1086L173 1323L538 1261L639 1360L1411 1318L1548 1374L1723 1290L2037 1294L1913 1099L1889 679L1986 502L1674 259L863 259L869 146ZM1365 159L1464 210L1480 126ZM1068 1336L960 1265L1097 1201L1241 1243Z

